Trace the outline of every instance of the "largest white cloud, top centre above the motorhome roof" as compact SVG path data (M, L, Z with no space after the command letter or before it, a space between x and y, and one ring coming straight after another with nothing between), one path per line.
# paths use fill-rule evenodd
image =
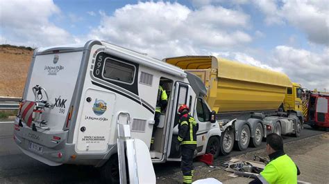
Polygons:
M221 6L191 10L179 3L139 2L115 10L100 11L101 25L90 38L108 40L149 55L166 56L203 53L251 42L249 16Z

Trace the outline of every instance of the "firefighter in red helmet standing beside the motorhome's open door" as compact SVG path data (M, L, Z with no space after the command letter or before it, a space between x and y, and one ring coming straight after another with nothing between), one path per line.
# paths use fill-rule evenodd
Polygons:
M196 149L196 131L199 126L196 120L189 115L189 107L186 104L180 105L178 122L178 142L180 143L182 161L180 168L183 172L183 183L192 183L194 174L193 156Z

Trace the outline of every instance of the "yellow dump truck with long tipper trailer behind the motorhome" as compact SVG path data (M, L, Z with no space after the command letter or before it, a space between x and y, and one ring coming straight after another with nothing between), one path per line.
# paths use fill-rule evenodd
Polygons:
M271 132L300 135L303 114L294 95L301 86L287 75L213 56L170 57L164 62L203 80L205 100L217 112L222 131L217 140L221 154L229 154L234 143L239 150L258 147Z

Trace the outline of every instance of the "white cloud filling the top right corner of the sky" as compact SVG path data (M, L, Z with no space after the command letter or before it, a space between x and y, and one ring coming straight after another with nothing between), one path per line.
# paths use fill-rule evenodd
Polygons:
M280 7L276 0L254 0L253 3L264 13L268 25L286 21L302 30L310 42L329 45L328 0L283 0Z

